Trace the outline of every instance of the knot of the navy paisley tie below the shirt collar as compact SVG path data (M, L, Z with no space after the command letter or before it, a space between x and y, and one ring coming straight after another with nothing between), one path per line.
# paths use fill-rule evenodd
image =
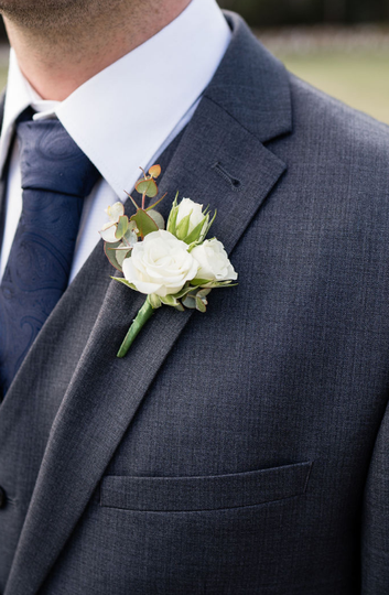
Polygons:
M17 129L23 190L87 196L99 173L60 120L22 121Z

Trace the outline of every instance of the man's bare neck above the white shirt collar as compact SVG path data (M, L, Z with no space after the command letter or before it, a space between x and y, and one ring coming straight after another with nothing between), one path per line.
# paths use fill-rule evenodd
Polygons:
M62 101L86 80L155 35L190 1L111 0L107 2L110 10L100 10L98 14L91 10L78 22L68 19L58 22L58 26L53 23L31 26L6 13L3 18L25 78L43 99ZM114 3L117 4L115 10Z

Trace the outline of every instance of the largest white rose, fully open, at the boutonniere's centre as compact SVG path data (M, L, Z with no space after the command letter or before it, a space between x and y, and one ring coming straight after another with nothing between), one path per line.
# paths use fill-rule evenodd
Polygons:
M197 261L187 249L184 241L169 231L152 231L133 247L131 257L125 260L125 277L138 291L148 295L155 293L164 298L177 293L197 274Z

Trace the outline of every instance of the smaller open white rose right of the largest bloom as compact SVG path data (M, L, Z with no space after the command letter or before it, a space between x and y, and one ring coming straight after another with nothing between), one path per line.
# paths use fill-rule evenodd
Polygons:
M221 241L217 239L205 240L196 246L191 255L198 263L197 278L212 281L228 281L238 279Z

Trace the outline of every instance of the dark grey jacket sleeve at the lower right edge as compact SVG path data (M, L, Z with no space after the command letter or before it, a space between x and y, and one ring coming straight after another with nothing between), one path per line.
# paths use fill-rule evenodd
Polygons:
M366 483L361 526L361 595L389 594L389 404Z

